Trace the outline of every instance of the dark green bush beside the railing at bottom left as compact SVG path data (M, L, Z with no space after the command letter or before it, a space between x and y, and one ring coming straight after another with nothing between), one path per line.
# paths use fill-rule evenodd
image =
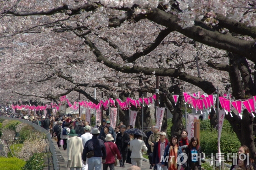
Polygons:
M22 170L43 170L47 166L44 164L44 157L47 155L48 153L35 153L27 160Z

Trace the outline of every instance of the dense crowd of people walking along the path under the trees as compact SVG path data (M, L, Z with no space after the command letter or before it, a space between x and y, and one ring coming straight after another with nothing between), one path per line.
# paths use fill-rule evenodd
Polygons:
M71 115L57 116L48 115L15 115L5 116L32 121L36 125L49 130L53 137L57 138L57 144L68 151L68 168L70 170L103 170L115 169L117 160L119 166L125 167L125 162L131 164L131 170L139 170L142 166L143 152L147 151L149 156L149 169L154 170L201 170L201 163L204 162L203 153L199 146L198 139L188 139L187 130L182 130L181 139L176 135L171 136L169 142L166 133L158 126L152 125L146 134L147 139L142 140L142 135L127 134L126 130L133 129L132 125L126 127L120 122L115 130L109 120L103 120L102 125L96 121L91 125L80 117L73 118ZM178 158L181 153L186 153L187 161L179 165L184 157ZM242 155L241 155L242 154ZM248 156L249 155L249 156ZM168 159L165 159L168 157ZM180 166L180 167L179 167ZM235 159L230 170L256 170L254 160L250 158L249 148L241 146L238 151L238 158Z

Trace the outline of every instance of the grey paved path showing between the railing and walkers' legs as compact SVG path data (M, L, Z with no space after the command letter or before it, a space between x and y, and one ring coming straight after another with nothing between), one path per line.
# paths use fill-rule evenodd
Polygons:
M64 157L64 160L65 160L65 163L66 163L66 166L67 166L67 162L68 162L68 152L67 152L67 150L63 150L63 146L61 146L61 148L59 149L60 150L60 153L61 153L61 155ZM127 164L127 163L125 163L124 165L125 165L125 167L124 168L120 168L119 166L119 160L117 160L117 162L118 162L118 164L117 164L117 166L115 166L115 170L127 170L128 169L128 167L130 167L131 166L131 164ZM149 170L149 160L147 160L147 162L144 162L144 161L142 161L142 168L141 168L141 170ZM81 168L80 168L81 169ZM103 165L101 164L101 170L103 170ZM109 168L108 168L108 170L109 170ZM153 170L153 169L152 169Z

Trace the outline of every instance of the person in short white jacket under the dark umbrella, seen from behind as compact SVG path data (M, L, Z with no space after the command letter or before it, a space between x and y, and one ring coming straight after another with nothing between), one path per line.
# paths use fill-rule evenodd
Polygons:
M131 161L132 165L137 165L141 168L142 165L142 158L143 158L143 151L147 151L148 148L145 142L142 139L142 136L134 134L134 140L130 141L130 150L131 153Z

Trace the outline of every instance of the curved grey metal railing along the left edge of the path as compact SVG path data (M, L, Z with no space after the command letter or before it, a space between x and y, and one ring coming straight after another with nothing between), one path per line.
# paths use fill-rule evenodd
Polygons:
M20 122L22 122L22 123L26 123L26 124L28 124L28 125L31 125L31 126L32 126L33 128L35 128L35 130L37 130L37 131L40 131L40 132L42 132L42 133L45 133L46 136L47 136L47 139L49 140L49 148L50 148L50 151L51 151L51 153L52 153L52 155L53 155L54 170L60 170L59 160L62 160L62 159L63 159L63 161L65 161L65 160L64 160L64 158L63 158L62 156L59 156L59 157L58 157L57 151L56 151L56 147L54 146L54 143L53 143L53 142L56 143L56 141L55 141L55 140L52 140L52 135L49 133L48 130L42 128L41 126L38 126L38 125L32 123L31 121L24 120L24 119L16 119L16 118L5 117L5 116L0 116L0 119L18 120L18 121L20 121ZM56 143L56 145L57 145L57 143ZM59 150L59 148L58 148L58 150ZM63 169L65 169L65 168L62 168L62 170L63 170ZM68 168L66 168L66 170L68 170Z

